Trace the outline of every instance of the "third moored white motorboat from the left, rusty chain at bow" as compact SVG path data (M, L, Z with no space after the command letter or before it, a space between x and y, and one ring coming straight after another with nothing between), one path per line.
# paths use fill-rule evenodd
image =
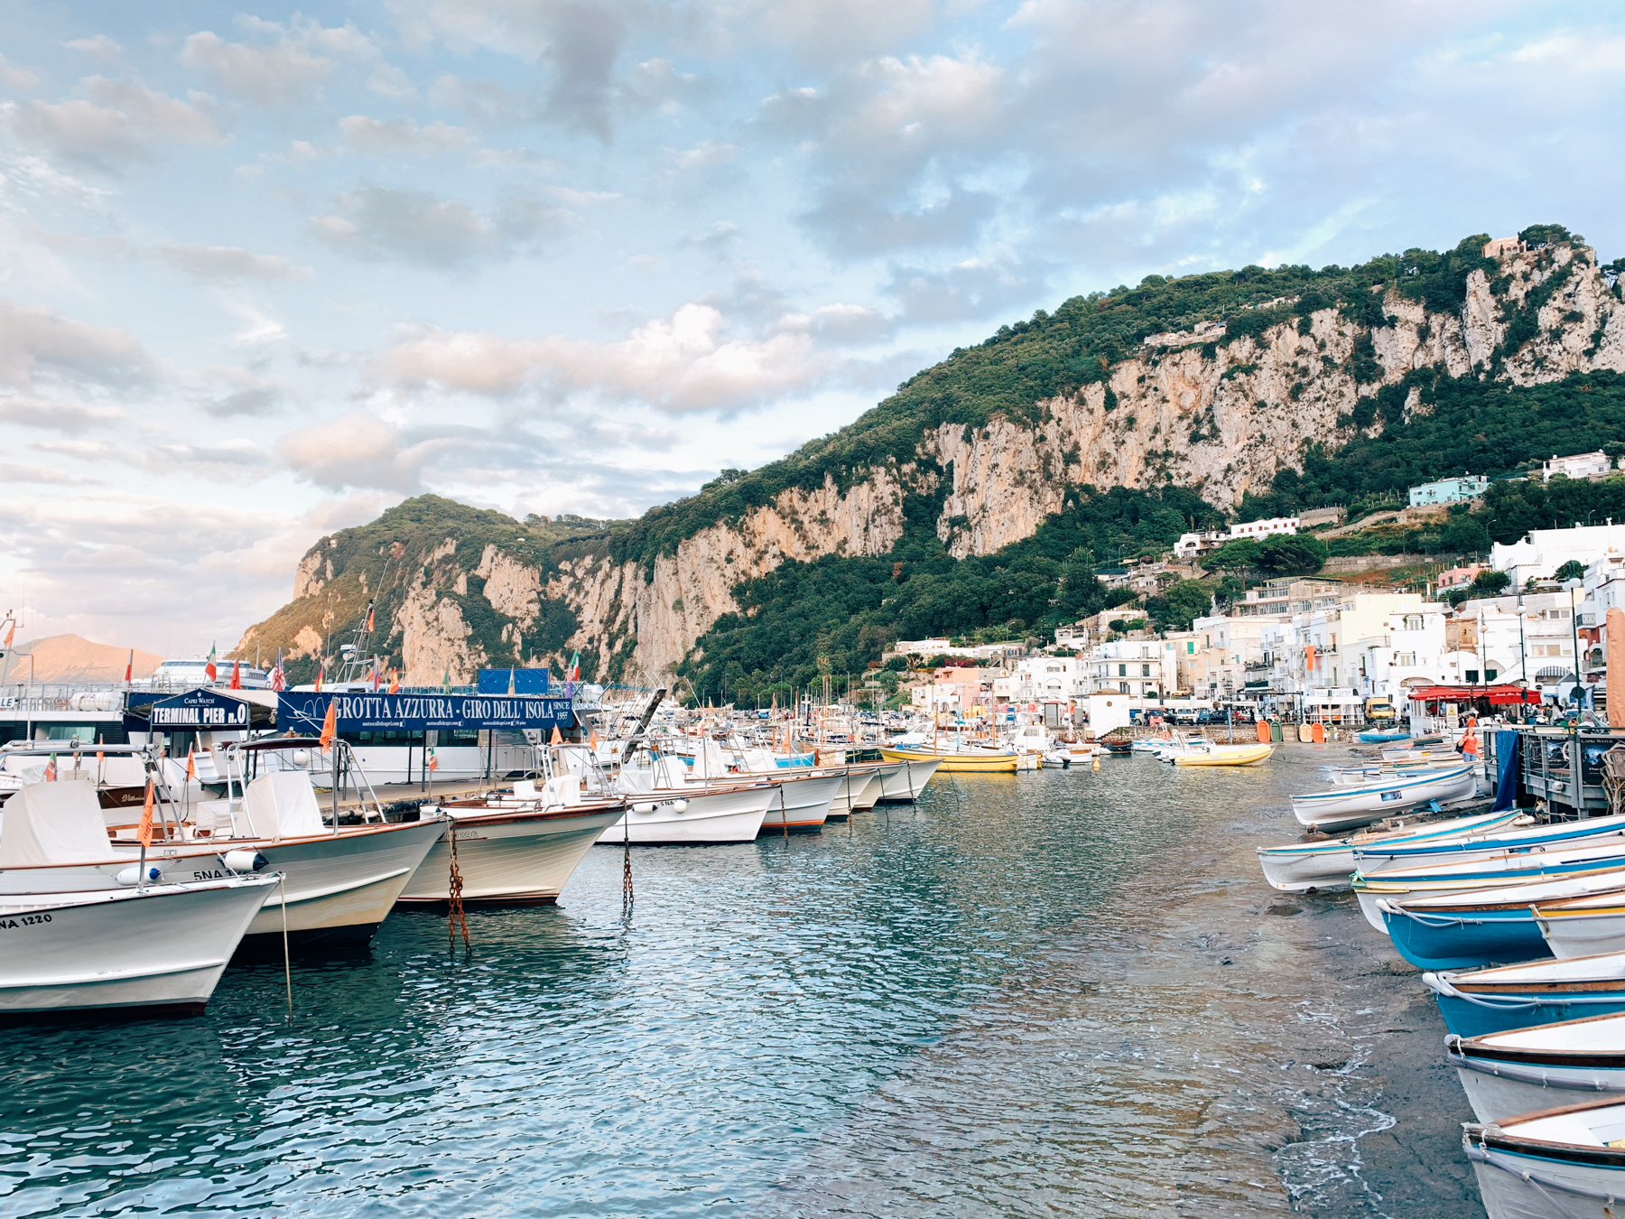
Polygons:
M582 777L567 770L546 779L541 787L520 780L512 792L426 806L424 811L444 814L452 824L396 900L406 907L450 900L450 837L455 834L463 902L556 902L598 835L616 824L626 809L624 796L587 793Z

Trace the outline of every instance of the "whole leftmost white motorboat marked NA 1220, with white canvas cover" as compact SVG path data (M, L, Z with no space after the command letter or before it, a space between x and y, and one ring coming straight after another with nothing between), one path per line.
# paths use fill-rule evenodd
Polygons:
M31 783L5 803L0 1013L202 1011L281 878L143 886L136 866L109 860L88 793L86 783ZM58 889L94 863L110 865L98 887Z

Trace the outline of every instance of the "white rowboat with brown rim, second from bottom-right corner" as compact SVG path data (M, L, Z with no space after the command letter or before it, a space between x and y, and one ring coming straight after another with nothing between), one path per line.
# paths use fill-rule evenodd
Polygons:
M1625 1100L1625 1014L1445 1037L1479 1121L1557 1108L1612 1092Z

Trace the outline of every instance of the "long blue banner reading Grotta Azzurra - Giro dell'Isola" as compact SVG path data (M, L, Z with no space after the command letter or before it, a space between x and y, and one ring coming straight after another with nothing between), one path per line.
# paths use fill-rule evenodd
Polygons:
M436 731L439 728L569 728L570 699L515 694L328 694L289 691L276 696L278 731L318 733L327 707L336 707L341 733Z

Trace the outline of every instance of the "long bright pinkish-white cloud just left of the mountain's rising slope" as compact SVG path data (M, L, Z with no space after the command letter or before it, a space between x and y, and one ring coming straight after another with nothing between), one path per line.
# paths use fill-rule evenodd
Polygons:
M804 392L832 372L806 332L756 341L730 340L722 332L722 312L694 302L618 343L424 328L379 356L374 374L396 387L505 395L540 385L666 411L730 411Z

